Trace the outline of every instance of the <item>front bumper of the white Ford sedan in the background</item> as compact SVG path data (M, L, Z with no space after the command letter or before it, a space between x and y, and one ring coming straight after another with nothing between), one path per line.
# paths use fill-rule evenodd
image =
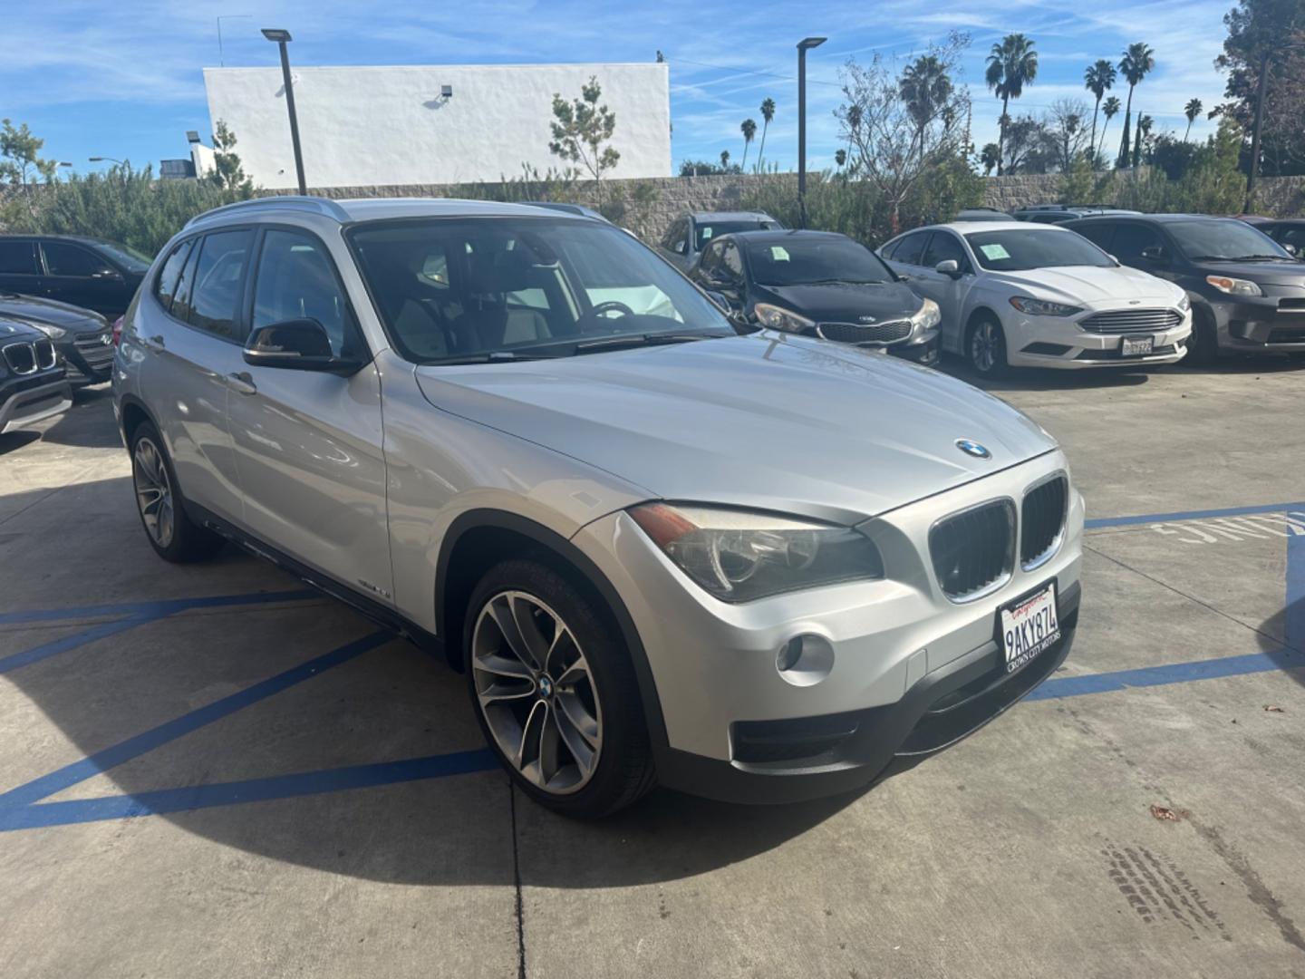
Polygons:
M1002 322L1006 335L1006 358L1013 367L1056 367L1084 369L1091 367L1146 367L1172 364L1188 352L1191 335L1191 312L1171 329L1135 333L1098 333L1079 326L1079 320L1112 309L1087 309L1071 319L1062 316L1027 316L1011 308ZM1147 356L1122 356L1124 337L1151 337L1154 352Z

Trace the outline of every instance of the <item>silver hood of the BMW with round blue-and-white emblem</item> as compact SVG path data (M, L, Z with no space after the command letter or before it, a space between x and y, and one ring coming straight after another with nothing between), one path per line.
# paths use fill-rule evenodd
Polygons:
M436 407L683 501L855 522L1056 446L968 384L762 332L517 364L419 367ZM985 445L976 459L958 439Z

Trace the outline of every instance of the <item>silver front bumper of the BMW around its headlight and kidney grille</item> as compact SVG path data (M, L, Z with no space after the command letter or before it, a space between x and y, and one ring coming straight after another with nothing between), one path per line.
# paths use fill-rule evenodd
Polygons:
M938 684L964 671L963 685L976 675L972 670L983 674L990 668L1001 607L1051 581L1057 586L1062 620L1070 615L1070 603L1077 607L1083 529L1083 504L1077 492L1069 493L1058 550L1028 570L1017 563L1009 578L975 600L953 602L942 594L929 557L930 529L979 504L1013 500L1018 506L1030 488L1051 474L1066 471L1064 454L1054 450L865 521L860 529L880 548L889 578L740 604L719 602L693 585L624 512L582 527L572 540L621 597L647 659L646 684L655 696L645 691L645 704L651 701L656 707L650 715L659 714L650 717L650 727L663 783L693 787L693 773L724 766L740 778L756 777L762 779L758 786L767 786L757 788L754 796L753 790L733 794L731 788L731 798L761 799L771 794L820 795L838 791L844 781L852 785L873 779L900 749L921 713L953 689ZM776 668L776 653L805 634L827 642L833 666L823 679L797 685ZM917 693L917 688L934 689L936 694ZM904 701L910 701L907 707L897 706ZM1005 706L1009 704L994 706L968 730ZM864 749L857 747L842 761L758 771L758 756L745 745L758 726L782 722L801 727L817 719L818 727L833 723L830 718L837 715L870 710L891 715L891 727L881 730L878 722L859 727L880 731L870 739L874 751L867 741ZM902 738L894 741L897 734ZM806 781L829 766L856 773L817 779L809 790L780 788L780 783ZM776 779L776 774L783 778ZM733 785L733 777L729 782Z

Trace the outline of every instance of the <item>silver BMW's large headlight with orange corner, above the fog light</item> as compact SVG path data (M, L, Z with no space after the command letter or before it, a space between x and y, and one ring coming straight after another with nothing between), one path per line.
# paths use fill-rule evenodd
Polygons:
M883 577L878 548L851 527L693 504L629 513L680 570L726 602Z

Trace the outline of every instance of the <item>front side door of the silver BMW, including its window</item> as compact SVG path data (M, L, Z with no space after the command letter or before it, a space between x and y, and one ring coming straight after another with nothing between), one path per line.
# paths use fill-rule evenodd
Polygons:
M316 320L350 377L241 364L228 399L244 526L301 564L393 602L381 449L381 380L330 252L303 228L261 234L249 329Z

